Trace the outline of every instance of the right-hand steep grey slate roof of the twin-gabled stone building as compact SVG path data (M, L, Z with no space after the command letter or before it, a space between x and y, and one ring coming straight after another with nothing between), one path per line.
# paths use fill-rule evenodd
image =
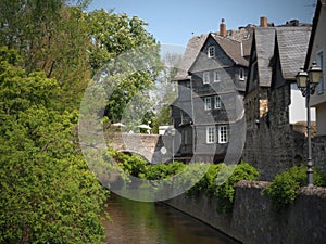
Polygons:
M304 65L311 27L277 27L276 31L283 77L294 79Z

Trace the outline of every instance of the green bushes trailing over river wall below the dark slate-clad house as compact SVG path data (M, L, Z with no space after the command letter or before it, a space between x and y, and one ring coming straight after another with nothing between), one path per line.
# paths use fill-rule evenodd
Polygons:
M244 162L230 166L223 163L217 165L200 163L186 165L179 162L150 165L139 155L124 155L124 153L114 150L111 150L111 154L114 155L114 158L127 174L146 180L164 180L177 174L183 174L183 177L174 181L171 187L195 184L187 191L187 194L191 196L203 192L211 197L215 197L218 213L231 210L235 187L238 181L258 180L259 177L259 171ZM186 168L187 170L185 170ZM202 179L197 182L198 176L201 175L203 175Z

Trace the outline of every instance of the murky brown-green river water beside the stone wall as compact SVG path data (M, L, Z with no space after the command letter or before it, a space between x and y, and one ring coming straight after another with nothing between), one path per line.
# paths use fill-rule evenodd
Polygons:
M105 221L110 244L237 244L217 230L162 203L111 195Z

